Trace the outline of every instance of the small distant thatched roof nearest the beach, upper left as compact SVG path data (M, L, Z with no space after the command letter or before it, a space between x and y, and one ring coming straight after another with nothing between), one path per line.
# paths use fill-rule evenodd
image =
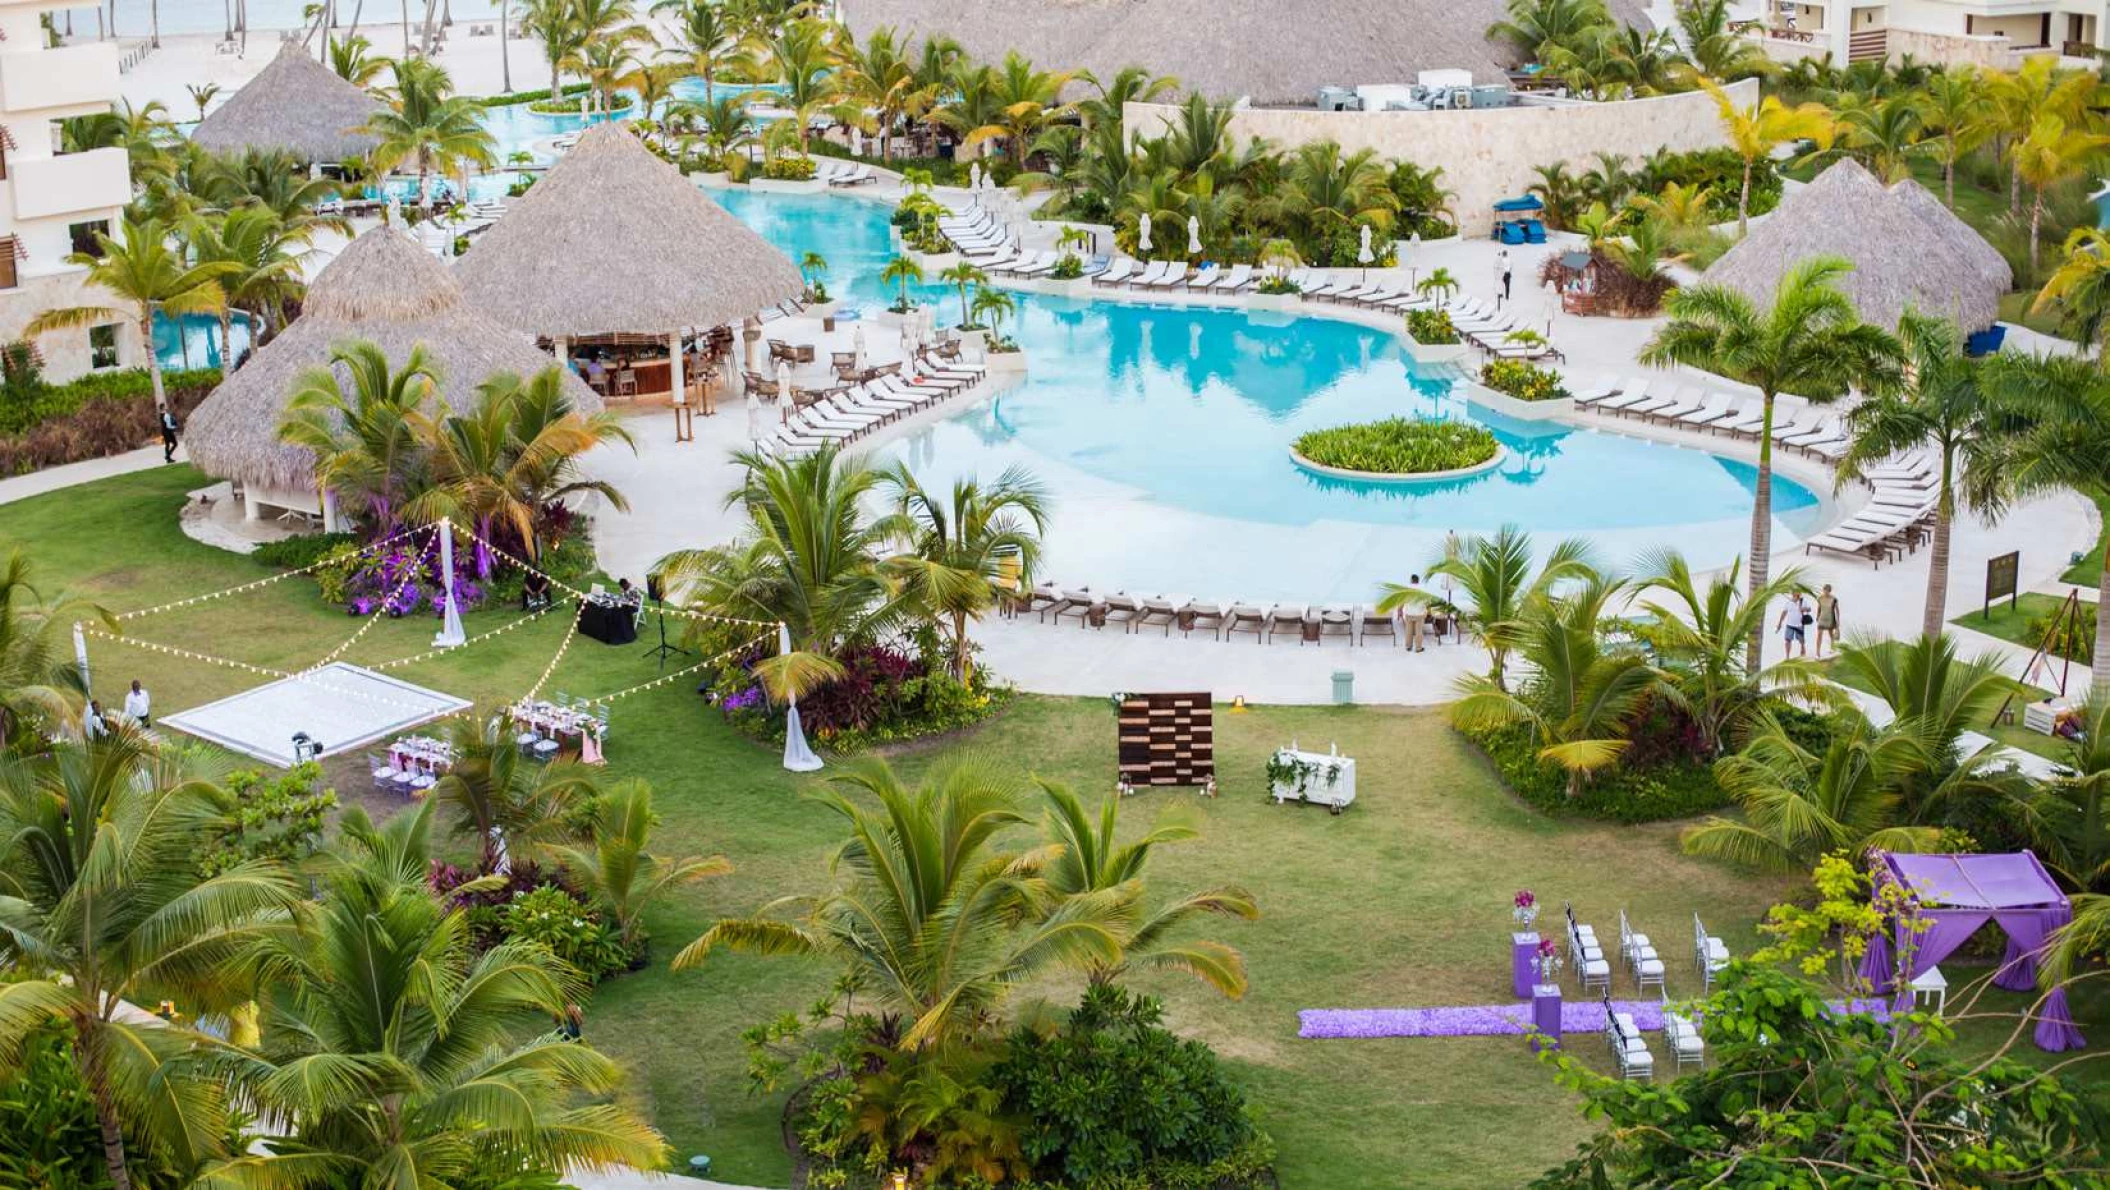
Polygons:
M285 42L270 65L198 120L190 139L211 152L283 150L302 160L352 160L380 143L352 129L384 110L369 91L308 57L300 42Z

